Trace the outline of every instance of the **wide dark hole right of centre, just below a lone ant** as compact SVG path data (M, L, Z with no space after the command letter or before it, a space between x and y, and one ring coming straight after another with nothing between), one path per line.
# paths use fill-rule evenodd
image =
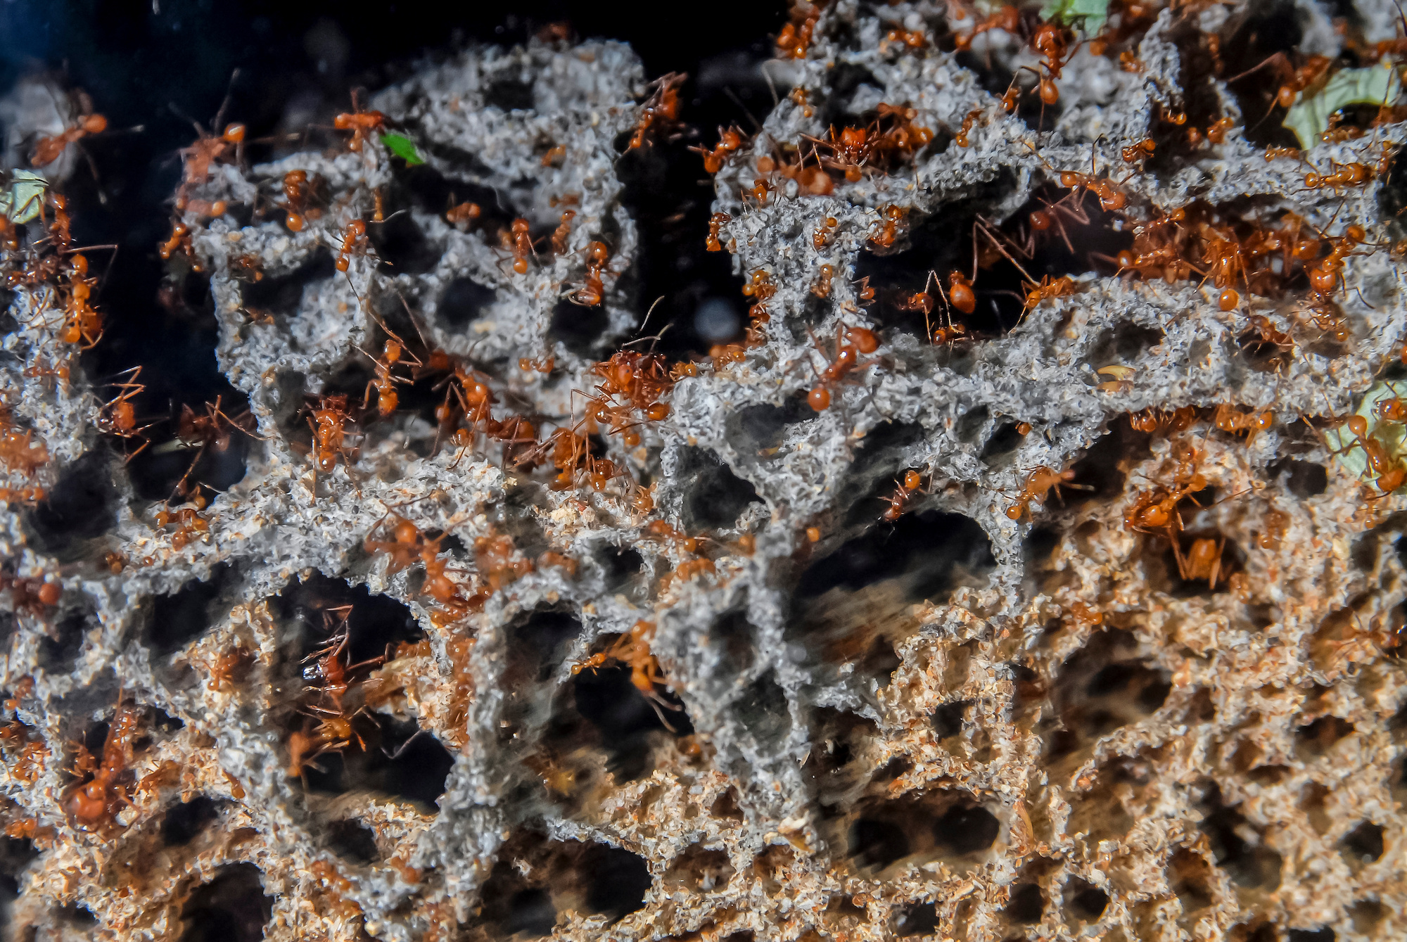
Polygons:
M796 585L802 599L902 578L910 600L936 599L985 578L996 565L982 527L961 513L920 510L881 522L813 562Z

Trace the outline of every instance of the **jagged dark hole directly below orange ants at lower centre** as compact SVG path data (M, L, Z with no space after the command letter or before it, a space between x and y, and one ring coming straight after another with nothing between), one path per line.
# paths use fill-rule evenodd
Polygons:
M694 733L678 697L656 686L658 702L651 703L630 682L630 669L625 665L582 671L571 678L567 690L575 713L591 724L598 744L608 752L606 770L616 782L633 782L650 773L656 734ZM553 727L549 733L553 740L580 742L581 733L571 723L566 704L559 706Z

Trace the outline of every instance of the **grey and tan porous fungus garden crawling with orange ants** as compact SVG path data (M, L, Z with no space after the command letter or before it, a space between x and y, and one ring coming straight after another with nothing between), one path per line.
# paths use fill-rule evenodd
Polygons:
M1102 56L1082 46L1044 115L1031 94L1002 108L1006 76L1038 62L1020 39L993 30L954 51L974 14L820 10L805 56L768 66L779 103L715 177L718 236L743 281L774 290L767 316L736 356L699 357L663 395L666 418L637 416L637 444L594 436L622 471L601 486L552 486L550 446L533 467L526 443L504 456L481 434L453 440L435 406L463 402L445 363L477 370L495 420L523 415L543 440L582 419L597 361L654 333L639 329L653 298L622 194L664 194L640 183L657 145L628 148L650 89L623 45L478 48L381 91L369 107L421 166L342 135L270 164L217 160L183 186L190 252L173 266L208 277L218 361L252 420L229 432L243 475L180 540L156 519L176 503L134 489L142 456L122 454L139 440L111 434L115 381L90 385L76 361L68 380L32 368L62 356L68 283L15 287L4 395L48 463L11 468L8 486L48 495L8 505L3 531L14 931L1407 934L1407 517L1321 434L1400 368L1390 167L1407 128L1268 155L1244 127L1261 114L1228 84L1240 69L1207 65L1207 37L1234 46L1248 6L1162 10ZM1278 15L1299 52L1341 52L1321 7ZM1390 39L1394 17L1365 4L1346 34ZM825 194L765 172L881 103L913 108L934 139L832 174ZM1234 127L1183 146L1164 120L1179 111ZM1152 159L1123 157L1150 136ZM1376 170L1306 187L1307 170L1349 163ZM284 219L291 170L315 188L300 231ZM1061 172L1124 201L1078 201ZM1065 235L1041 233L1031 264L1074 239L1075 262L1034 273L1072 291L1023 309L1020 280L998 285L1006 262L986 259L974 315L946 312L929 271L947 285L974 232L1024 238L1062 198ZM193 208L215 200L236 208ZM447 221L466 201L478 218ZM377 205L369 250L343 252L348 222ZM567 208L550 250L540 236ZM1223 311L1199 274L1116 274L1134 228L1178 208L1189 228L1294 218L1324 252L1349 226L1365 238L1332 316L1311 311L1303 274ZM525 271L501 239L515 218L539 239ZM597 240L602 304L584 307L567 295L581 299ZM926 287L927 323L903 301ZM964 322L967 336L931 342ZM817 413L806 394L840 325L881 343ZM408 357L401 409L383 418L366 384L388 336ZM519 366L547 357L547 373ZM336 395L345 444L315 472L315 411ZM1271 420L1225 430L1217 406ZM170 434L151 447L197 457ZM1071 474L1020 513L1037 468ZM1193 470L1200 486L1182 486ZM919 486L881 520L906 471ZM1176 526L1128 526L1148 493L1173 492ZM419 534L404 560L398 520ZM1195 547L1220 567L1186 569ZM432 575L457 600L438 602ZM15 579L62 596L44 605ZM613 658L580 669L639 621L656 626L653 702ZM340 630L346 650L329 654ZM345 699L317 673L328 658L353 678ZM136 734L111 813L76 817L93 776L77 745L101 752L122 717ZM297 737L329 717L352 733L300 763Z

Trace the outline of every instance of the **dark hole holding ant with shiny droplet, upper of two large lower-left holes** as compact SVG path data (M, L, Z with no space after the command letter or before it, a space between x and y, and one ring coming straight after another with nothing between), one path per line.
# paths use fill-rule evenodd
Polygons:
M338 612L343 606L350 606L350 612ZM290 658L300 664L343 630L346 664L386 655L402 641L415 644L425 637L411 610L391 596L371 595L364 585L350 586L321 572L303 582L290 581L270 607L284 619L284 643L293 644Z

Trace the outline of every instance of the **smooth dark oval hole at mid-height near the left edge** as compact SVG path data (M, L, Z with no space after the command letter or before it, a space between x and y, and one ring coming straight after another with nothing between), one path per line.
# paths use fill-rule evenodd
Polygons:
M31 546L59 562L83 554L84 541L117 523L113 458L103 449L89 451L59 475L46 501L24 512Z

